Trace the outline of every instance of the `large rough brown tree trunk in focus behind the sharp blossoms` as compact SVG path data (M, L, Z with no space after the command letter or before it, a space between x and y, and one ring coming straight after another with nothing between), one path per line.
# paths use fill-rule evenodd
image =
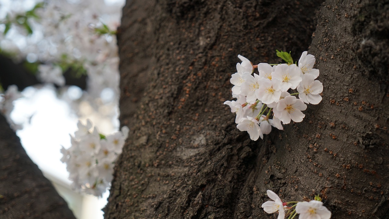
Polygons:
M320 194L332 218L387 218L388 1L128 0L118 32L130 127L105 218L277 218ZM313 40L312 40L313 39ZM251 141L223 105L237 55L315 55L323 100Z

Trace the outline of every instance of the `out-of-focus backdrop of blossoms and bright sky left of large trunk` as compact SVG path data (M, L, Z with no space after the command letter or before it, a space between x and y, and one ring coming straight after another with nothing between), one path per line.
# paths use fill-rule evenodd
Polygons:
M119 129L115 31L123 4L0 0L0 59L23 69L15 81L19 91L7 95L12 87L0 81L5 94L1 111L78 219L103 218L100 209L109 190L100 198L74 191L60 150L70 148L70 134L77 131L79 120L91 120L103 134ZM4 71L4 65L0 73L13 74ZM30 76L37 82L25 87L21 81Z

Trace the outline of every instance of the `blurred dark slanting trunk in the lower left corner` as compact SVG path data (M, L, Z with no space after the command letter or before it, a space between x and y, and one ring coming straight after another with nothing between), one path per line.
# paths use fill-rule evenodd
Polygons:
M75 219L2 115L0 125L0 218Z

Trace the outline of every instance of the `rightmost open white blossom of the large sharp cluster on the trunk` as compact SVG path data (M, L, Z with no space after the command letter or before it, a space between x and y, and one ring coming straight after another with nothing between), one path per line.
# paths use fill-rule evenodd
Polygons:
M304 74L297 91L298 97L305 103L319 104L322 100L320 93L323 91L323 84L315 80L312 74Z

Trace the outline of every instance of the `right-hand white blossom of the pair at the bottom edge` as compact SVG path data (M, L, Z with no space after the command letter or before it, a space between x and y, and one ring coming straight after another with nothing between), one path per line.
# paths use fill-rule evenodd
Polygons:
M321 201L302 201L297 203L296 212L299 219L330 219L331 212L323 206Z

